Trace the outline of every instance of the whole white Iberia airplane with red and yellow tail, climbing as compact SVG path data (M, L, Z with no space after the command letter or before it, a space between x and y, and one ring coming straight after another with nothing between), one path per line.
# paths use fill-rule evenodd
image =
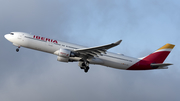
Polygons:
M4 37L17 46L17 52L20 47L25 47L51 53L57 55L57 61L60 62L79 62L79 67L85 73L89 70L89 64L123 70L168 69L167 66L172 64L163 62L175 46L167 43L150 55L143 58L133 58L123 54L107 52L108 49L119 45L122 40L97 47L84 47L24 32L11 32L4 35Z

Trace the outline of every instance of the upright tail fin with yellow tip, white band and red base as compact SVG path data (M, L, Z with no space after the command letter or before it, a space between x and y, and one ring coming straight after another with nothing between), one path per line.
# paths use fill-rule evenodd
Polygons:
M151 63L163 63L174 46L175 45L173 44L167 43L166 45L156 50L154 53L142 58L142 60L149 61Z

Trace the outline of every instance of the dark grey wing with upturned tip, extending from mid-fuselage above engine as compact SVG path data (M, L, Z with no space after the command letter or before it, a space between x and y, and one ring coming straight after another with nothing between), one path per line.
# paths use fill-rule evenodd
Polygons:
M99 55L106 54L106 51L112 47L115 47L121 43L122 40L119 40L115 43L98 46L98 47L91 47L91 48L81 48L81 49L74 49L74 52L78 52L83 56L91 56L91 57L98 57Z

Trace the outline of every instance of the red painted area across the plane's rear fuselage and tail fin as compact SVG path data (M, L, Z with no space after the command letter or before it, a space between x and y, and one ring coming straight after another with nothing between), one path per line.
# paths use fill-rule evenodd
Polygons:
M159 51L154 52L139 62L135 63L131 67L129 67L127 70L148 70L148 69L157 69L151 67L151 63L163 63L166 57L169 55L170 51Z

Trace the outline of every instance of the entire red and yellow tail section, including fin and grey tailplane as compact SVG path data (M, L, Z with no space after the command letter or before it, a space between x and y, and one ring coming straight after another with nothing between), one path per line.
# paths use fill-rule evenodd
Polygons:
M141 60L127 70L148 70L148 69L166 69L168 65L163 63L164 60L167 58L171 50L174 48L175 45L167 43L166 45L162 46L154 53L141 58Z

